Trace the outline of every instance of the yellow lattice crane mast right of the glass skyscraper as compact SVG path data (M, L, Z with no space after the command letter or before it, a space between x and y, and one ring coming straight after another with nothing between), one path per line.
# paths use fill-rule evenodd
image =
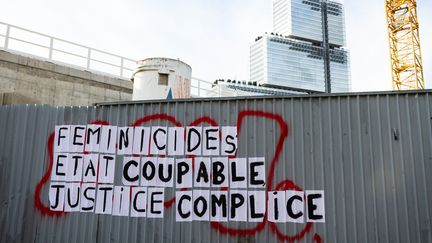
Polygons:
M385 0L393 90L424 89L416 0Z

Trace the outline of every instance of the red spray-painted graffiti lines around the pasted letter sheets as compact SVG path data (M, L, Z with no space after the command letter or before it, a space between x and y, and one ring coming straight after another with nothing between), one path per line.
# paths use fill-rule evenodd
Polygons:
M298 190L298 191L301 191L302 189L290 180L282 181L276 186L276 188L273 188L273 180L274 180L276 165L277 165L279 157L282 153L283 144L285 142L285 139L288 137L288 124L284 121L282 116L280 116L278 114L265 112L265 111L257 111L257 110L245 110L245 111L241 111L238 115L238 118L237 118L238 134L240 134L243 121L247 117L260 117L260 118L274 120L277 122L277 124L280 128L280 135L279 135L278 140L277 140L275 153L273 155L273 158L271 159L270 168L269 168L269 171L267 174L268 179L267 179L266 191L272 191L272 190ZM167 114L153 114L153 115L144 116L144 117L138 119L137 121L135 121L132 124L132 126L141 126L142 124L144 124L146 122L150 122L150 121L154 121L154 120L168 121L175 126L179 126L179 127L183 126L183 124L181 122L177 121L177 119L175 117L167 115ZM190 122L189 126L198 126L202 123L208 123L212 126L218 126L218 123L213 118L211 118L209 116L200 117L200 118ZM93 122L93 124L108 125L108 122L98 120L98 121ZM66 213L65 212L58 212L58 211L51 211L49 209L49 207L45 206L42 203L41 198L40 198L42 187L46 184L46 182L48 182L49 177L51 175L51 170L53 167L53 145L54 145L54 133L50 134L49 139L48 139L47 151L48 151L48 156L49 156L49 166L48 166L44 176L42 177L42 179L36 185L35 198L34 198L35 204L34 205L35 205L35 208L38 209L42 215L62 216ZM135 155L135 156L137 156L137 155ZM190 156L190 157L194 158L194 156ZM230 156L230 157L235 157L235 156ZM187 189L182 189L182 190L187 190ZM222 190L227 190L227 188L222 188ZM174 202L175 202L175 197L170 198L164 202L164 206L166 208L170 208L170 207L172 207ZM266 212L267 212L267 210L266 210ZM219 222L211 222L210 225L214 230L220 232L221 234L227 234L230 236L248 236L248 235L255 235L255 234L261 232L265 228L267 222L268 222L268 220L267 220L267 213L266 213L264 215L263 222L258 223L257 225L255 225L252 228L229 227L229 226L223 225ZM282 233L275 223L273 223L273 222L268 222L268 223L270 225L271 232L274 233L280 241L287 241L287 242L294 242L294 241L299 241L299 240L304 239L304 237L308 233L310 233L310 231L312 230L312 226L313 226L313 223L308 222L308 223L306 223L305 227L300 232L298 232L295 235L290 236L290 235ZM312 240L314 242L317 242L317 243L322 242L320 235L317 233L313 235Z

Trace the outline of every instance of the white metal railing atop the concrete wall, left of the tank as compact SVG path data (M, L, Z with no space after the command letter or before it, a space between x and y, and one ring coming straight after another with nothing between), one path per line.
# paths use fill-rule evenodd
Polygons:
M0 48L130 79L136 61L0 22Z

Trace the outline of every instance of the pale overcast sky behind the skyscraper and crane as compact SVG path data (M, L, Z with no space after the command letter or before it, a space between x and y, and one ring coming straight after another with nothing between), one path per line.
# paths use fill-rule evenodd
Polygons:
M426 87L432 87L432 1L417 0ZM389 90L384 0L345 0L353 91ZM249 45L272 31L272 0L13 0L0 21L133 59L179 58L192 76L249 79Z

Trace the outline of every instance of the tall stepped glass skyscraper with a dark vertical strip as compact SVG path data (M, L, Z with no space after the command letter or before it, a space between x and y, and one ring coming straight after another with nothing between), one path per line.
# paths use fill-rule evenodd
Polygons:
M274 0L273 31L250 48L250 78L264 86L350 91L343 5L330 0Z

